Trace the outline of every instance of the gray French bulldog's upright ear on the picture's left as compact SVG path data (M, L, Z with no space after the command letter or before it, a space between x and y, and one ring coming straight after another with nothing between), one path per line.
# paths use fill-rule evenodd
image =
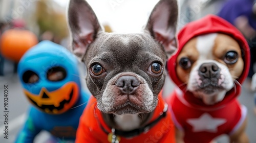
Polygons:
M72 36L72 52L82 58L102 28L91 6L84 0L70 0L68 23Z

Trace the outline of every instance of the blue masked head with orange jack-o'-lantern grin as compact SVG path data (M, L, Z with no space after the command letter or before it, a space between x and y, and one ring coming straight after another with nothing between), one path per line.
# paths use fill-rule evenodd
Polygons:
M65 47L42 41L25 53L17 71L27 99L41 111L61 114L76 106L78 61Z

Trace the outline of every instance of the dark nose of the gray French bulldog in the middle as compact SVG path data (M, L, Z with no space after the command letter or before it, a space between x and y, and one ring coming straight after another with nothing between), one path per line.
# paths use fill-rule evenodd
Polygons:
M140 82L134 76L122 76L116 81L115 85L120 87L122 93L132 94L138 88Z

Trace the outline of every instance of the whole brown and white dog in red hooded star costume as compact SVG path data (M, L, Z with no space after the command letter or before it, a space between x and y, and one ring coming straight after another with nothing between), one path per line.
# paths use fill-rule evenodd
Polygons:
M230 142L248 142L246 108L237 100L249 67L243 35L208 15L188 23L178 40L178 52L167 64L178 86L168 99L177 142L210 142L221 134L228 134Z

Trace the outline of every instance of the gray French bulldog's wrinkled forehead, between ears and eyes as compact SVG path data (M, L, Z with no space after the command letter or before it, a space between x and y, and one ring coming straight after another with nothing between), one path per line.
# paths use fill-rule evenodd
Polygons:
M139 63L150 59L163 61L166 58L163 57L165 55L163 47L146 33L102 33L96 38L96 42L90 45L88 51L90 55L85 56L87 64L94 62L93 60L97 58L105 62L120 64Z

